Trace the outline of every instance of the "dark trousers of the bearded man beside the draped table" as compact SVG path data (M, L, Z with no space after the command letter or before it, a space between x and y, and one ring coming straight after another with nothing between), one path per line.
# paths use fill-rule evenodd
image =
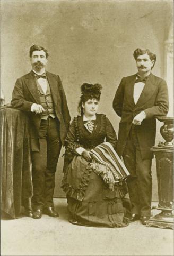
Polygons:
M53 206L55 172L62 147L57 117L41 120L39 143L40 151L31 153L34 210Z

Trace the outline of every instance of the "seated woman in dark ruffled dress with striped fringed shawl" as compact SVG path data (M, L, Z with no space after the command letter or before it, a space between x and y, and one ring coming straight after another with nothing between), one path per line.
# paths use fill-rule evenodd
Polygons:
M67 195L69 221L83 226L125 227L130 206L125 198L125 178L129 173L121 167L120 159L117 163L111 159L118 157L114 150L117 137L106 115L97 114L101 85L83 84L81 92L81 115L74 117L66 138L62 188ZM104 151L100 158L105 147L110 155ZM107 154L109 160L103 160Z

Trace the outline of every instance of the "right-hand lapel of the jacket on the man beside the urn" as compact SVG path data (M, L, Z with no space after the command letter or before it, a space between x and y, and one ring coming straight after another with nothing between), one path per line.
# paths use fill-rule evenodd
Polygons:
M147 79L147 82L144 85L143 91L140 94L140 98L138 99L135 106L136 107L142 106L153 95L153 92L155 90L156 90L155 77L151 73L149 78Z

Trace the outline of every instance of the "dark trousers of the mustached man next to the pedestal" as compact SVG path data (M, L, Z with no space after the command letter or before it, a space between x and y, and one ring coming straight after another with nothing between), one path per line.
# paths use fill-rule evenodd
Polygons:
M152 201L152 159L142 159L137 129L137 126L132 126L127 138L123 159L128 171L131 173L127 178L127 186L132 204L132 213L150 217Z

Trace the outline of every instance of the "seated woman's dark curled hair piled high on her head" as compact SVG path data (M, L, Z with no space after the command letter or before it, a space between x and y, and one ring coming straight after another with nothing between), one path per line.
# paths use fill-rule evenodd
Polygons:
M81 97L80 102L78 106L78 110L81 115L83 115L83 107L82 103L84 104L89 99L96 99L97 101L100 101L100 95L101 95L101 84L88 84L84 83L81 85Z

